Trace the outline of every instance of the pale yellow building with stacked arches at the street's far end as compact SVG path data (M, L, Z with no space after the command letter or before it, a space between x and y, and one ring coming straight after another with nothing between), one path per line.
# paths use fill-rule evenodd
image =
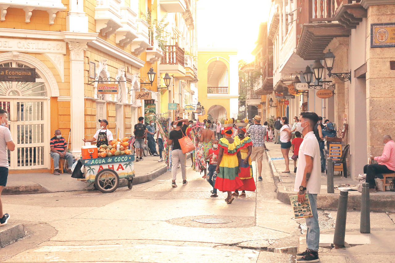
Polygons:
M239 74L237 50L198 50L198 101L204 107L199 120L237 118Z

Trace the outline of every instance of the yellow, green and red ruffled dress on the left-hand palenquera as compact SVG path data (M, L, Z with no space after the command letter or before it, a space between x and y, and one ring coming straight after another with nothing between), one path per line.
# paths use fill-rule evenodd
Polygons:
M224 149L224 154L214 187L222 192L235 191L243 186L243 182L237 175L239 171L237 152L240 150L240 139L234 138L233 143L229 143L228 139L221 138L218 145Z

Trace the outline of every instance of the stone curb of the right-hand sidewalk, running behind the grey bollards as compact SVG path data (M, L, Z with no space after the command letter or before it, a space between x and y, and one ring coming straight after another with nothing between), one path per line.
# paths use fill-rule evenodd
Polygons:
M296 192L288 192L285 186L279 186L282 182L280 173L271 160L271 156L266 152L266 159L269 163L274 184L276 186L276 198L283 203L291 204L290 195L296 195ZM269 161L270 160L270 161ZM320 209L337 209L339 205L339 194L320 193L317 196L317 208ZM395 195L370 195L371 210L395 210ZM348 210L361 210L361 195L348 195Z

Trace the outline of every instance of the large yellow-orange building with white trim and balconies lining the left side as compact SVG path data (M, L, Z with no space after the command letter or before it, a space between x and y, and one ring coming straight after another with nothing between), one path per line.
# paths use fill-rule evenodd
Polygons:
M144 115L145 102L160 112L161 96L156 88L164 86L164 73L158 66L164 56L146 14L152 9L154 18L167 13L173 20L179 17L179 23L188 20L182 26L193 32L187 18L192 16L190 10L196 13L191 7L194 4L190 0L2 1L0 70L35 74L32 79L0 79L1 108L8 111L17 144L11 152L10 169L48 171L49 141L56 129L79 156L82 139L93 136L99 119L109 121L114 137L118 133L124 137L132 134L137 118ZM192 41L188 43L192 45ZM182 48L186 48L184 43ZM193 62L188 65L185 75L187 68L188 74L194 68ZM144 87L151 91L151 99L136 99L135 92L143 88L141 82L149 83L150 68L157 73L152 86ZM195 79L196 74L192 81ZM98 84L119 84L118 93L101 94ZM178 84L184 87L181 80Z

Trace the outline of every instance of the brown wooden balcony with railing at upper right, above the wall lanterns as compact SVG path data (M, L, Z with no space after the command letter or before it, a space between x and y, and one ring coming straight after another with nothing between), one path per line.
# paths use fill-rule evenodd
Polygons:
M351 30L335 21L335 11L346 0L299 0L296 54L304 60L324 59L324 49L337 37L348 37ZM348 2L348 0L347 0ZM338 5L339 4L339 5ZM318 25L319 24L319 25Z

